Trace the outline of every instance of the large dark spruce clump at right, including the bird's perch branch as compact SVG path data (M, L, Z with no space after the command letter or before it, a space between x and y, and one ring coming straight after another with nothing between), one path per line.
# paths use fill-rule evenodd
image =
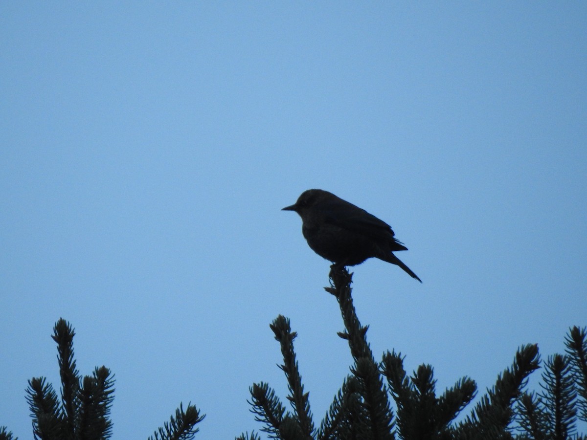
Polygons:
M294 344L296 333L289 320L278 316L271 324L281 344L292 407L288 412L266 383L251 391L255 420L261 431L275 439L395 439L402 440L585 440L576 435L576 420L587 416L587 337L585 329L569 330L566 356L546 360L542 392L525 391L528 376L539 368L538 346L521 346L512 365L498 375L495 385L481 396L473 410L454 422L477 394L477 384L468 377L437 394L434 369L420 365L411 375L403 367L403 356L392 350L375 361L353 306L352 274L333 265L330 287L335 296L353 364L335 395L328 413L314 429L308 392L303 391ZM390 397L395 403L394 415ZM237 440L260 440L252 433Z

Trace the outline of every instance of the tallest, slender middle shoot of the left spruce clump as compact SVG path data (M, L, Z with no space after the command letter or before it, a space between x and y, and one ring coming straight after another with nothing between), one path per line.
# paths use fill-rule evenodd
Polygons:
M57 343L59 374L61 376L61 399L65 412L65 439L75 439L77 431L77 393L79 391L79 374L73 358L73 337L75 331L63 318L59 319L53 327L52 339Z

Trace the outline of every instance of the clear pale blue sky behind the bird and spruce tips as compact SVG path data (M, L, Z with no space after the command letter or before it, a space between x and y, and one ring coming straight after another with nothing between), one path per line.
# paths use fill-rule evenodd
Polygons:
M316 419L352 362L329 262L280 209L322 188L393 226L353 270L376 357L481 391L587 324L585 2L1 2L0 425L27 380L116 374L114 439L191 401L259 429L295 347ZM472 408L472 407L471 407ZM465 410L468 411L468 410Z

